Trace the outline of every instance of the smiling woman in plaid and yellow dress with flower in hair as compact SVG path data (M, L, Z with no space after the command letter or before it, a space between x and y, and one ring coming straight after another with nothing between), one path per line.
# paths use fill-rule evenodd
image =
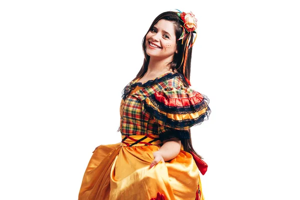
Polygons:
M122 141L100 145L85 170L81 199L203 199L190 127L207 119L206 96L189 88L196 19L178 10L159 14L142 40L144 62L125 86Z

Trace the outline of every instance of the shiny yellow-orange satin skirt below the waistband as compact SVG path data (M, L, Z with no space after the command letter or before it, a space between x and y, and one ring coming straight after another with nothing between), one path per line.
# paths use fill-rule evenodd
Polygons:
M203 200L192 155L181 150L172 160L149 168L158 149L124 143L98 146L84 172L78 200L163 199L160 194L168 200Z

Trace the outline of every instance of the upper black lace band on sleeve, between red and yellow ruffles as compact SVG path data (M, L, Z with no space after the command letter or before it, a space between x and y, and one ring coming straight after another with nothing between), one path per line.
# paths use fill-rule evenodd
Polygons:
M184 114L184 113L192 113L192 112L196 112L199 111L201 109L203 109L204 107L208 106L209 103L209 99L207 98L207 96L201 94L203 96L203 99L201 102L199 102L198 104L195 105L188 105L188 106L167 106L162 102L159 102L155 99L154 95L149 96L148 98L150 99L150 101L153 103L153 105L155 107L157 107L158 109L168 112L168 113L179 113L179 114Z

